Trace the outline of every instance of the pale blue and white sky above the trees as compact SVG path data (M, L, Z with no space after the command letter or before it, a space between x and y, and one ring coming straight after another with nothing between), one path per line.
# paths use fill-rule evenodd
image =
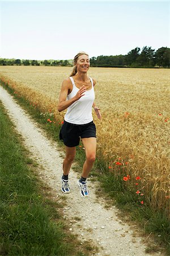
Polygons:
M29 60L126 55L170 48L170 1L0 0L0 57Z

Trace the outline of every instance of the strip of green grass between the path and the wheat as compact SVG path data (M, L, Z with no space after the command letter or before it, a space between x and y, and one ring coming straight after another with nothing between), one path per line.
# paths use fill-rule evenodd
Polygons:
M27 100L20 97L18 94L14 94L8 85L4 85L4 88L14 95L18 103L28 111L29 114L39 123L39 125L47 131L49 136L59 143L59 146L63 146L61 141L59 141L59 129L61 125L56 122L49 123L48 118L54 120L50 117L50 113L41 114L41 111L35 106L29 104ZM85 154L83 147L77 147L76 150L76 164L74 169L81 172L83 162L85 159ZM106 197L113 199L112 202L122 210L122 216L128 215L130 221L135 221L139 227L141 227L141 233L146 232L146 234L155 235L155 243L157 245L152 245L148 251L160 250L160 248L166 248L167 255L170 255L170 221L164 216L161 211L155 212L150 204L150 199L137 196L135 193L133 185L126 186L126 182L122 180L123 171L120 167L120 175L114 175L114 173L108 172L108 166L102 159L96 159L95 165L90 173L91 179L97 179L100 181L101 189L105 192ZM141 200L145 201L145 204L141 204ZM151 250L152 248L152 250Z

